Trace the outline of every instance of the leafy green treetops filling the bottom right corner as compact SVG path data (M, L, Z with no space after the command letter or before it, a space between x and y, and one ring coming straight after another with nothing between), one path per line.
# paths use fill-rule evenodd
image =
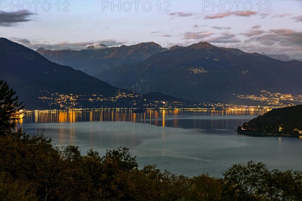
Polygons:
M301 200L302 171L269 171L262 162L233 164L223 173L224 200Z

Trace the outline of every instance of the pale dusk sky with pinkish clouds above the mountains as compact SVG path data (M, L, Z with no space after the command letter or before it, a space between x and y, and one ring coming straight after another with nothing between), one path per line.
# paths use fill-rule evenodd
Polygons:
M292 1L0 1L0 36L32 49L200 41L302 59L302 3Z

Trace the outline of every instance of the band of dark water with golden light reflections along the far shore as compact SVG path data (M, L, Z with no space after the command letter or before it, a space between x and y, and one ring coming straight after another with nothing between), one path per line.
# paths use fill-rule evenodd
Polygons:
M36 111L24 113L24 119L17 121L19 127L25 123L72 123L81 121L127 121L152 124L161 127L196 128L203 130L231 130L241 125L242 119L250 119L265 111L232 110L147 110L134 113L131 110L69 110ZM163 134L162 138L165 138Z

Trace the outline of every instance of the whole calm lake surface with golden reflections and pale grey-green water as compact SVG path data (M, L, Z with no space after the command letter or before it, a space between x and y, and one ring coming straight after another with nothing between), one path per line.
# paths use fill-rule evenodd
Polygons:
M269 169L302 170L302 140L250 137L234 131L263 111L127 110L32 112L18 121L28 133L43 132L52 143L79 146L82 154L127 147L140 168L156 164L186 176L220 177L233 163L261 161Z

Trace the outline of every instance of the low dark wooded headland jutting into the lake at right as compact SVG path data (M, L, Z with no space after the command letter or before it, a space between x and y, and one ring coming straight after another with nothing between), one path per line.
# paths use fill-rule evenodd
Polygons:
M237 129L240 133L276 135L302 135L302 105L273 109Z

